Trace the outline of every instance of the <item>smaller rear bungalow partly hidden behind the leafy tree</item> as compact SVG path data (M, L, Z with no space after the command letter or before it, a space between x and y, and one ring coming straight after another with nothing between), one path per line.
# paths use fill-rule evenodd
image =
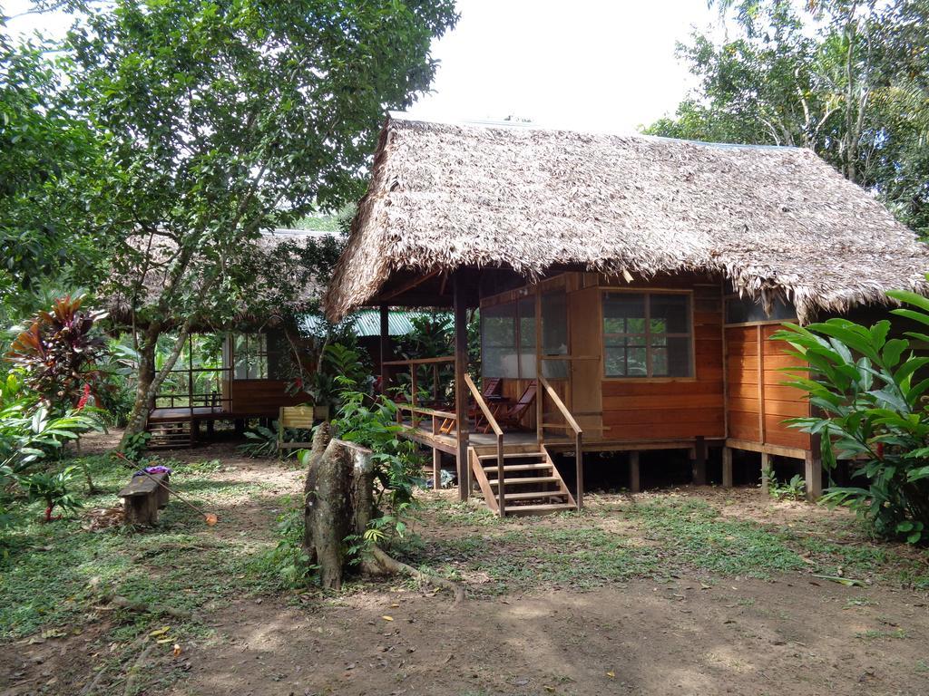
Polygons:
M312 277L300 285L281 282L274 274L281 254L295 254L307 244L331 243L334 238L329 232L276 229L257 240L255 287L266 289L272 309L267 316L253 316L242 309L222 323L211 316L198 317L195 332L149 405L146 430L151 446L193 445L202 428L212 432L216 421L230 421L242 430L249 419L275 419L281 406L310 401L306 393L288 391L299 374L297 362L306 363L308 354L298 328L286 326L281 317L315 308L322 286ZM154 244L161 248L155 246L150 252L156 263L147 268L145 276L125 277L122 291L106 298L112 319L123 329L143 327L138 316L145 312L137 308L157 303L160 296L164 269L157 260L161 255L170 257L174 246L167 238L157 238ZM165 332L170 329L169 325Z

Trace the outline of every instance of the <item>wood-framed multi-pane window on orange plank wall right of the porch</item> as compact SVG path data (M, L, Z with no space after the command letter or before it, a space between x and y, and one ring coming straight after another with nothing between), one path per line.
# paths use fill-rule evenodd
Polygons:
M604 294L607 377L690 377L691 345L689 295Z

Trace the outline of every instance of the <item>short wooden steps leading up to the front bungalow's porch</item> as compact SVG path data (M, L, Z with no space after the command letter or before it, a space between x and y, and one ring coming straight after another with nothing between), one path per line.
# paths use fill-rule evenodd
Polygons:
M469 447L468 459L487 506L500 512L496 447ZM504 452L504 514L540 515L576 509L577 503L544 446Z

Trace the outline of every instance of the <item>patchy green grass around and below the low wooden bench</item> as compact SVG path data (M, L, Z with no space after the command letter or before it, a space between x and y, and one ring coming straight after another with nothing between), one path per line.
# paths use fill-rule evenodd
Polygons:
M118 503L115 492L129 471L106 458L87 458L91 473L107 491L85 499L85 509ZM233 498L250 496L260 486L205 479L204 466L174 465L172 487L206 502L222 521ZM75 482L84 490L84 482ZM144 630L157 616L106 612L111 595L158 607L197 612L210 601L229 599L260 588L247 572L250 561L273 542L213 534L192 509L174 500L162 511L159 526L131 532L123 527L82 529L80 512L68 519L38 522L38 506L25 510L24 522L3 537L0 560L0 639L29 636L47 626L80 630L99 616L111 616L124 634ZM220 522L221 523L221 522ZM273 524L268 514L268 528ZM175 620L173 623L177 623ZM190 626L194 630L196 626Z

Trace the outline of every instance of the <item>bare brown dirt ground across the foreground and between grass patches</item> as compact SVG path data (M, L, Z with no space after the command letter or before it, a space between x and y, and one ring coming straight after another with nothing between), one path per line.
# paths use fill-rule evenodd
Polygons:
M282 494L299 491L300 471L239 457L229 445L171 456L217 458L222 468L205 476L262 485L259 495L230 500L220 524L204 534L273 543L273 509ZM450 522L442 510L453 492L430 492L417 531L428 549L464 535L486 535L490 543L507 533L595 526L635 547L655 542L639 538L623 506L667 496L704 500L726 519L823 538L849 524L842 512L772 501L757 490L685 488L591 496L588 515L498 528L479 513ZM505 548L496 552L505 556ZM929 695L929 599L922 590L891 582L843 586L803 571L767 580L695 571L587 591L564 583L514 584L494 594L483 591L481 575L461 566L457 577L470 596L458 607L447 593L400 578L353 586L341 596L310 591L217 602L203 614L203 637L185 644L179 658L141 665L154 677L134 692ZM2 692L81 693L99 659L88 646L107 628L7 646L14 652L0 660L0 669L15 669L19 686ZM39 687L48 675L66 674L72 676ZM124 686L111 692L123 693Z

